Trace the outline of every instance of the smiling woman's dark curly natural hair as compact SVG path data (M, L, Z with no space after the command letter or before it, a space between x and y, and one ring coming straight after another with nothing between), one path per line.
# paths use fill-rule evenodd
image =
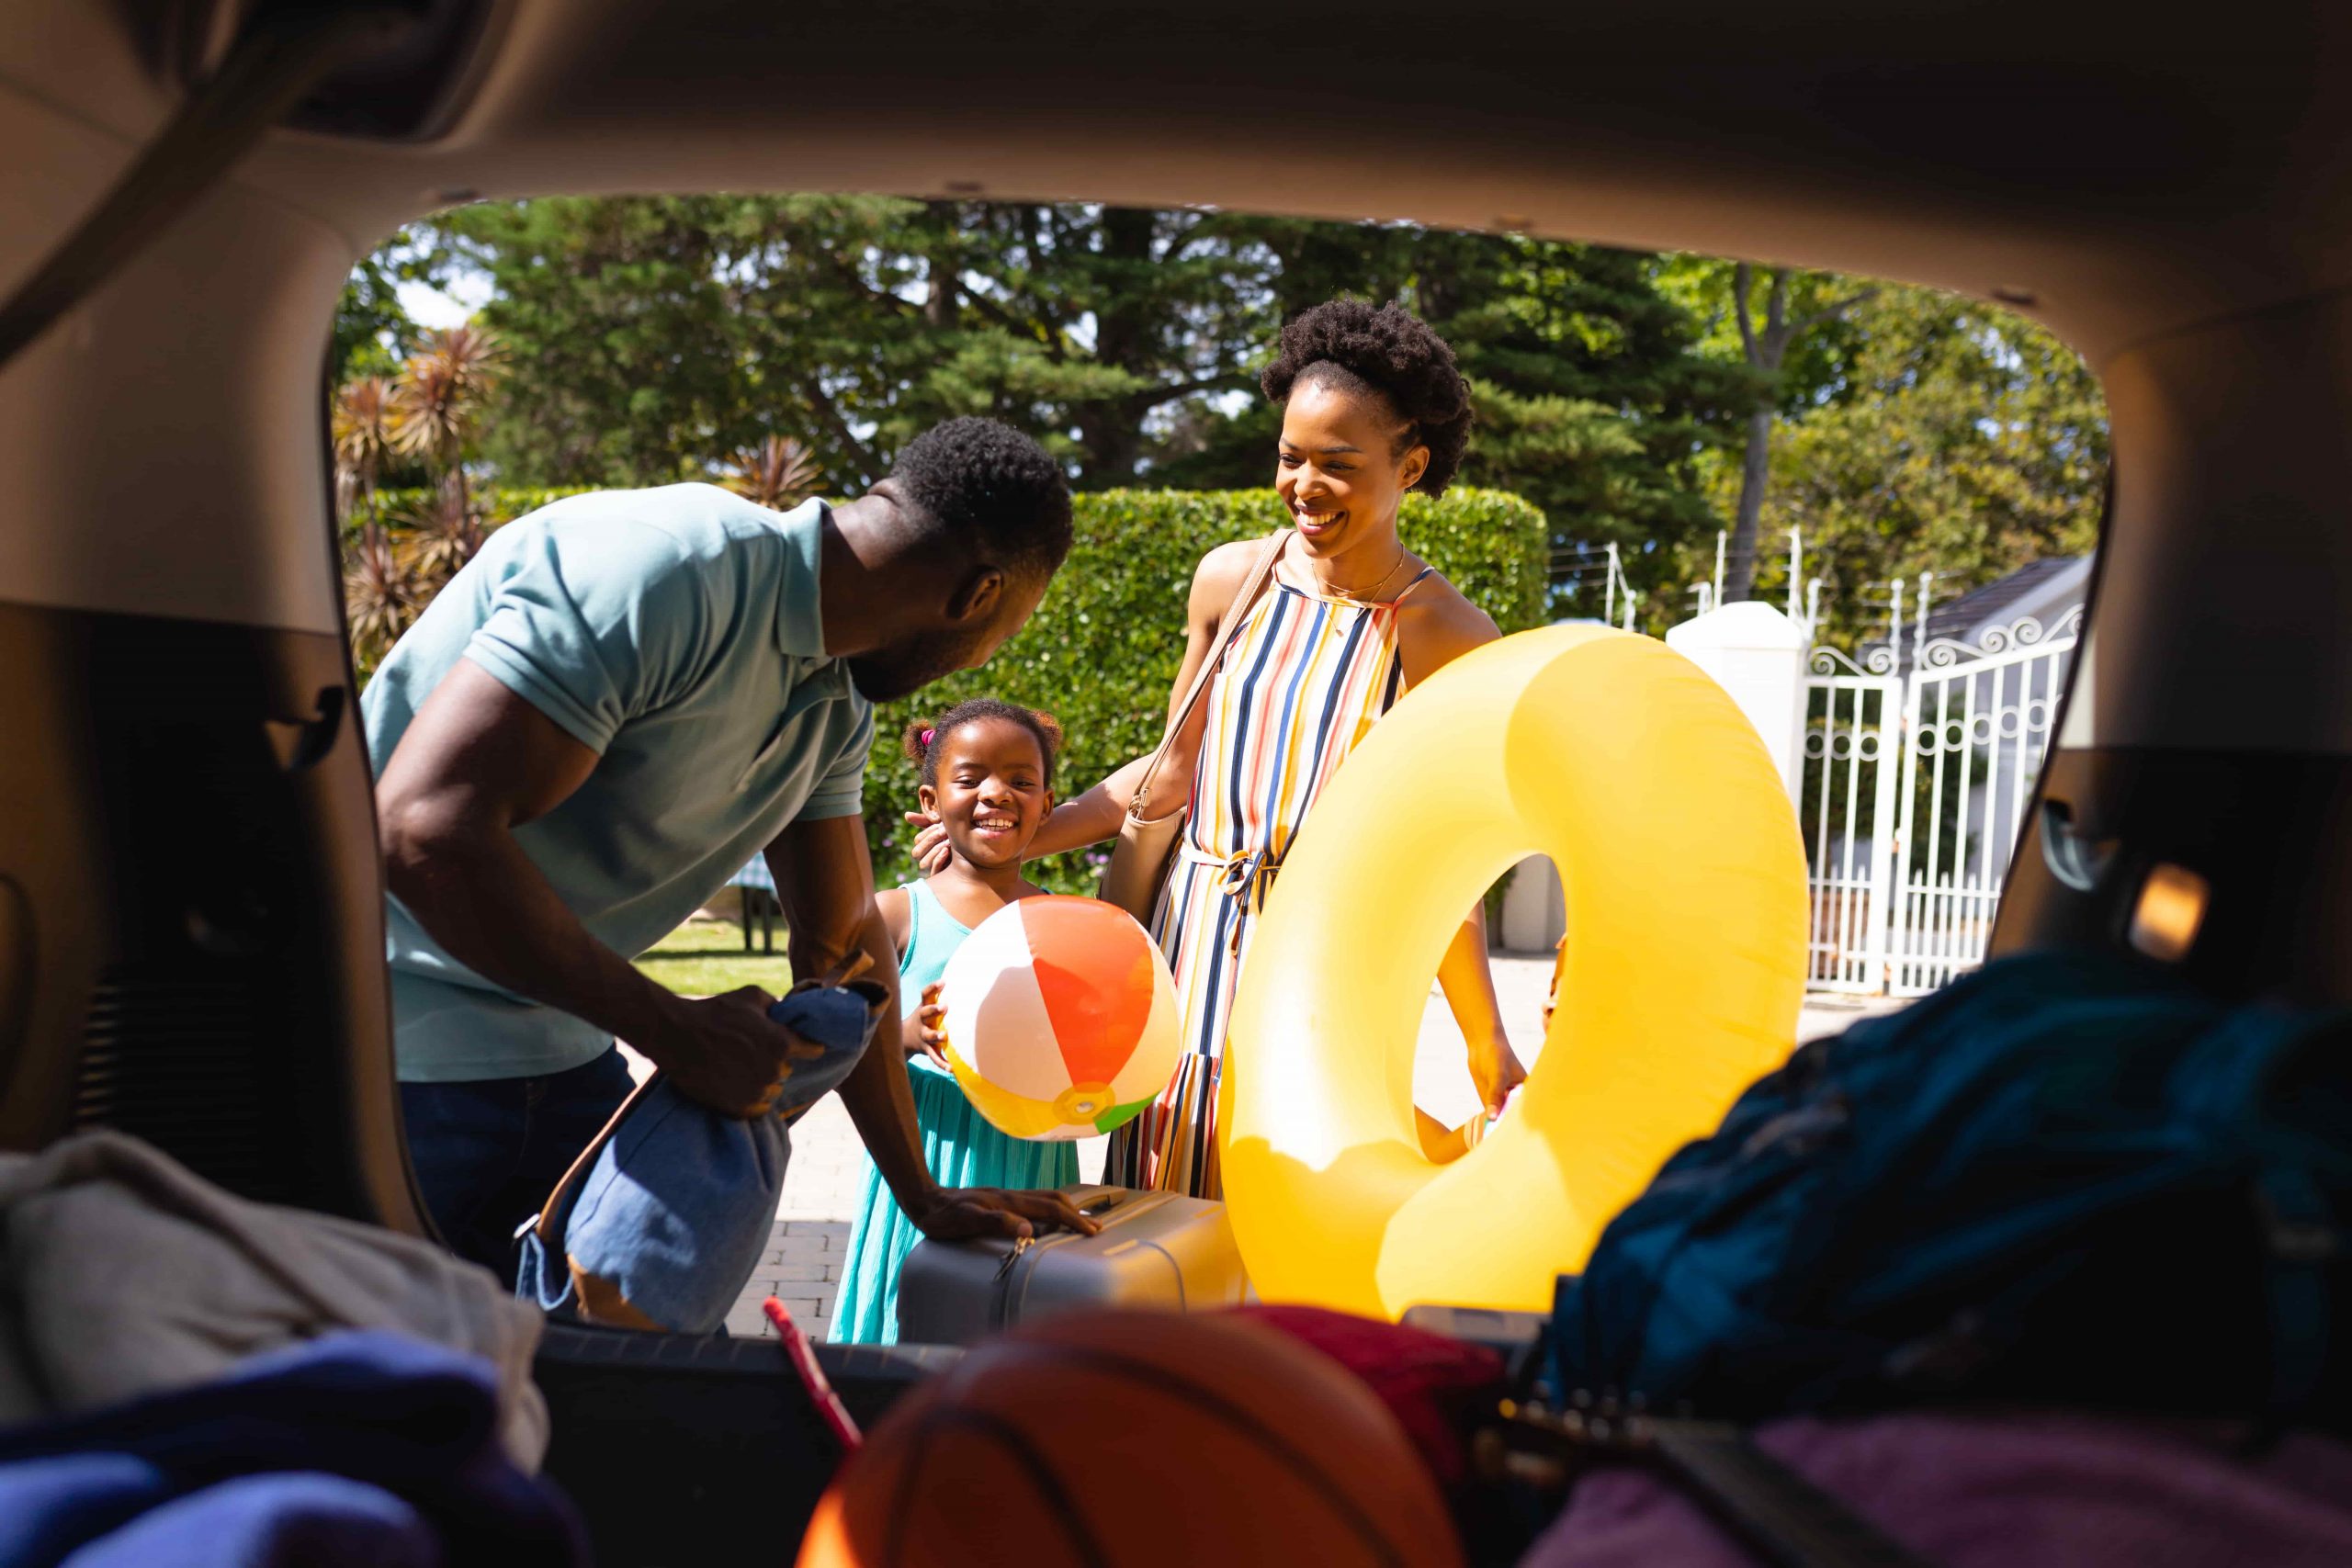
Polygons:
M1383 397L1406 423L1397 451L1416 442L1430 449L1430 465L1414 489L1446 494L1470 444L1470 388L1454 369L1454 350L1421 317L1362 299L1303 310L1282 329L1282 346L1258 386L1270 400L1289 402L1301 381Z

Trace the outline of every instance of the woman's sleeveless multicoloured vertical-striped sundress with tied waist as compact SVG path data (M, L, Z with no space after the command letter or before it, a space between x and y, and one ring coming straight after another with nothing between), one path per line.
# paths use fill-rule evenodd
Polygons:
M1192 809L1152 919L1190 1048L1160 1100L1112 1135L1103 1180L1223 1197L1216 1079L1249 936L1315 797L1404 693L1397 607L1430 571L1376 604L1272 578L1225 644Z

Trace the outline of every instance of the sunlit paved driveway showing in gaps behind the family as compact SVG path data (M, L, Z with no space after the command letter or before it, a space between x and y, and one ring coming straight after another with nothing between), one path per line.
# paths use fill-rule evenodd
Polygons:
M1550 980L1550 954L1494 954L1503 1027L1522 1063L1534 1063L1543 1051L1543 992ZM1886 997L1806 997L1797 1039L1835 1034L1860 1018L1896 1006L1900 1001ZM1468 1121L1477 1112L1477 1091L1463 1065L1461 1039L1444 997L1432 985L1428 1011L1421 1016L1414 1100L1446 1126ZM635 1056L630 1056L630 1070L640 1077L647 1072L642 1058ZM1077 1145L1082 1178L1091 1180L1101 1173L1103 1143L1091 1138ZM842 1110L840 1098L828 1095L793 1128L793 1166L783 1182L783 1201L776 1206L776 1229L760 1260L760 1272L753 1274L743 1298L727 1314L727 1333L774 1335L760 1314L760 1302L776 1295L811 1338L826 1338L833 1326L842 1255L849 1248L849 1218L856 1213L863 1182L866 1154L858 1133L849 1126L849 1112Z

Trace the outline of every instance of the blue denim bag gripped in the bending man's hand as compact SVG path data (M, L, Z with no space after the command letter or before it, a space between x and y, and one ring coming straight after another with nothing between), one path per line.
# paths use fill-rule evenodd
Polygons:
M793 1119L858 1065L887 999L870 980L809 980L771 1006L826 1053L793 1063L764 1117L722 1117L659 1072L640 1084L517 1232L515 1295L616 1328L720 1328L776 1222Z

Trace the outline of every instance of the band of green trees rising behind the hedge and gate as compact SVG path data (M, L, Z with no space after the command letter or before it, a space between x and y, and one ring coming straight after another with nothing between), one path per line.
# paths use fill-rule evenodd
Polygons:
M1755 536L1776 597L1804 529L1837 625L1896 574L1959 592L2086 548L2105 465L2089 371L2013 315L1526 235L875 195L485 202L353 275L350 376L423 348L397 310L409 277L487 296L503 376L456 461L393 451L381 484L757 487L797 442L854 494L938 418L993 414L1080 489L1256 487L1277 428L1256 369L1282 320L1397 299L1475 383L1463 482L1545 515L1548 614L1597 616L1616 545L1646 630L1689 614L1719 531ZM814 482L793 468L767 473L779 496Z

